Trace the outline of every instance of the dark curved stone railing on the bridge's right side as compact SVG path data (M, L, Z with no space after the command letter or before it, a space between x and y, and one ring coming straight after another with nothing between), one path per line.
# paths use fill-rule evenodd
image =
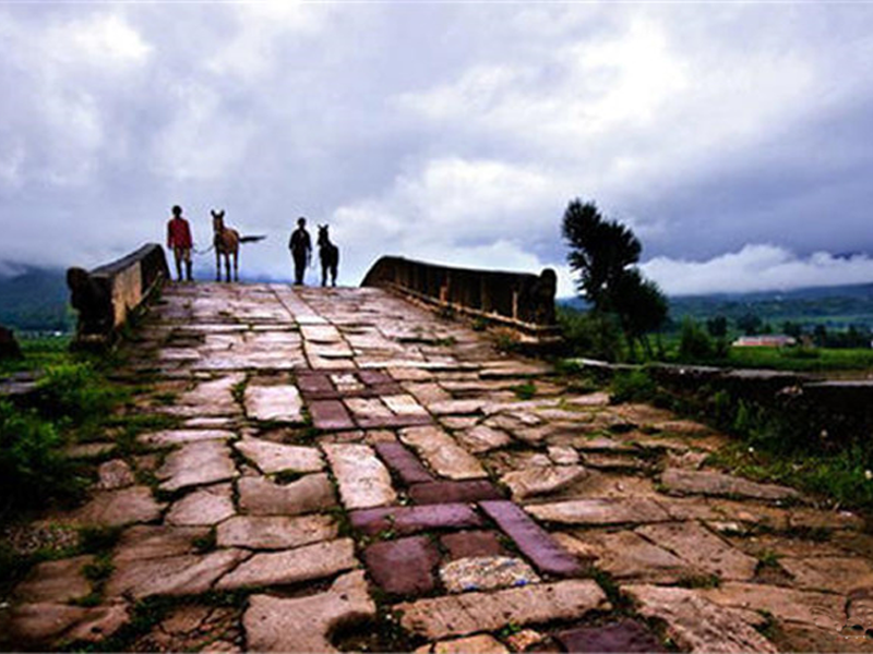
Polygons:
M550 268L537 276L451 268L383 256L367 272L361 286L387 288L428 304L548 338L558 335L557 281Z

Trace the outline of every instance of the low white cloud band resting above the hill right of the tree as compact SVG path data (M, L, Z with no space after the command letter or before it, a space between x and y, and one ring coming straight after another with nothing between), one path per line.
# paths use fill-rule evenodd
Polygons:
M671 295L789 290L873 282L873 258L816 252L799 257L777 245L750 244L705 262L656 257L642 270Z

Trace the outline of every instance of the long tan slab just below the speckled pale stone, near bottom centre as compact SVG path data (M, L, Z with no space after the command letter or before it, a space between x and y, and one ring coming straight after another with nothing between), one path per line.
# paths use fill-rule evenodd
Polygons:
M608 610L609 602L589 579L565 580L495 593L462 593L399 604L400 625L430 640L524 626L574 620L590 610Z

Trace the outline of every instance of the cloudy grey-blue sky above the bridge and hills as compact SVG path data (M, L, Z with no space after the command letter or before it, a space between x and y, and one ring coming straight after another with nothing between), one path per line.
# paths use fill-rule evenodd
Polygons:
M180 204L201 250L211 208L267 234L249 276L303 215L346 284L397 254L570 294L581 197L670 293L871 282L871 61L856 2L0 2L0 271Z

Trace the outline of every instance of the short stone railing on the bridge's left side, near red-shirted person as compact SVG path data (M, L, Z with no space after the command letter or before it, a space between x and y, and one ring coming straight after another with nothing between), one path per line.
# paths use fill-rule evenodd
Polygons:
M99 347L111 342L131 312L168 276L164 249L156 243L91 271L69 268L70 303L79 312L74 344Z

